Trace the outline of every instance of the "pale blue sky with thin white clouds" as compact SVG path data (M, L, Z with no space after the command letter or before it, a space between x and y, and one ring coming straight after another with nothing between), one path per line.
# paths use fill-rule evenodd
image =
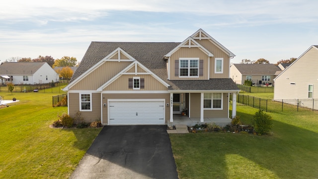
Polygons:
M0 61L80 61L91 41L182 42L202 28L236 57L271 63L318 45L317 0L6 0Z

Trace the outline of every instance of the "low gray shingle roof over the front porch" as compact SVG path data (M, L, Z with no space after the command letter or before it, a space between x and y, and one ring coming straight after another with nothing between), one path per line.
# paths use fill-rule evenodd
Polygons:
M215 91L239 91L232 79L210 80L171 80L168 90L215 90Z

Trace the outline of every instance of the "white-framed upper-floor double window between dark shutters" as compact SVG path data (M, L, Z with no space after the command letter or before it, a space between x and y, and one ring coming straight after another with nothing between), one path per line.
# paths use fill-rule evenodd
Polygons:
M199 77L199 59L180 58L179 72L180 77Z

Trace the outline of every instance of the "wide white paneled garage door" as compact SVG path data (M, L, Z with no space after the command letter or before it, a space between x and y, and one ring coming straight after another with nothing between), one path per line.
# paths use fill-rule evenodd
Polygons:
M156 100L156 99L155 99ZM164 101L109 101L109 125L164 124Z

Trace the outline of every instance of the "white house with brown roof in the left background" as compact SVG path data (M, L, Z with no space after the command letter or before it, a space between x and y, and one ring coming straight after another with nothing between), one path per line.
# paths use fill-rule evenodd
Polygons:
M15 85L46 84L59 80L59 75L46 62L5 62L0 65L0 76L8 76L5 81Z

